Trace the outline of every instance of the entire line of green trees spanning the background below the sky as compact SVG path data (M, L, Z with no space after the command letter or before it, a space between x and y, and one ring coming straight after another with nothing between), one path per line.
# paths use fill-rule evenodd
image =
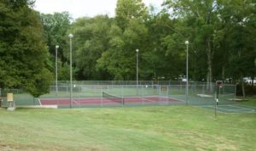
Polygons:
M76 80L136 80L137 49L139 80L180 80L186 74L185 41L189 41L189 80L236 82L243 77L253 79L256 73L256 3L253 0L166 0L160 11L155 11L153 6L146 7L142 0L118 0L113 18L98 15L77 20L72 20L67 12L38 14L32 10L31 1L0 2L2 87L20 86L33 78L34 73L40 75L39 70L43 69L54 75L56 45L60 46L58 78L68 80L69 33L73 34ZM26 7L12 9L12 5L20 6L18 2L24 2ZM4 11L5 8L14 13L8 14L10 11ZM27 8L34 17L24 15L26 11L17 12L19 8ZM21 16L22 19L18 18ZM11 23L12 20L27 23ZM10 31L5 33L5 26ZM37 42L24 41L19 35L23 32L34 41L38 38ZM27 67L32 71L26 72L26 67L12 66L14 63L2 56L16 57L20 64L25 63L22 57L29 60L27 65L39 65L32 60L44 64L36 66L36 70ZM24 72L23 75L19 75L20 72ZM20 77L24 81L17 80Z

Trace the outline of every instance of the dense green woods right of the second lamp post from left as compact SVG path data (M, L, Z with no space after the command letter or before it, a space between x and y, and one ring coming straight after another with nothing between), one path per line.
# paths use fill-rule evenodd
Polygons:
M189 79L253 78L255 8L253 0L166 0L156 13L141 0L119 0L114 18L81 18L71 25L75 77L135 80L139 49L140 80L177 80L185 75L189 40Z

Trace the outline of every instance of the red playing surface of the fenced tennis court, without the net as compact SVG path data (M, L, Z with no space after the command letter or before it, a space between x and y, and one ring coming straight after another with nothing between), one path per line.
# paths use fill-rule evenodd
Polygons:
M70 98L41 98L42 105L70 105ZM123 99L109 99L109 98L73 98L72 104L79 106L90 105L120 105L120 104L139 104L139 103L183 103L182 100L175 98L160 98L160 97L129 97Z

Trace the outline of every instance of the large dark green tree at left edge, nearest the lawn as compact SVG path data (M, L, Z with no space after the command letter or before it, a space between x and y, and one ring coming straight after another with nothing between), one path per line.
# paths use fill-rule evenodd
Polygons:
M36 87L38 84L31 81L49 71L45 69L48 53L39 15L32 10L32 1L0 1L0 7L0 85L40 91L49 83L41 82L41 87ZM51 77L44 75L49 81Z

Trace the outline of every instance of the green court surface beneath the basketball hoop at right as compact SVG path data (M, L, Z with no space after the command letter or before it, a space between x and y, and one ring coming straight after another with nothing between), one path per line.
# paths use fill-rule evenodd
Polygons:
M215 109L214 105L201 105L204 109ZM245 105L218 105L217 111L221 113L256 113L256 108Z

